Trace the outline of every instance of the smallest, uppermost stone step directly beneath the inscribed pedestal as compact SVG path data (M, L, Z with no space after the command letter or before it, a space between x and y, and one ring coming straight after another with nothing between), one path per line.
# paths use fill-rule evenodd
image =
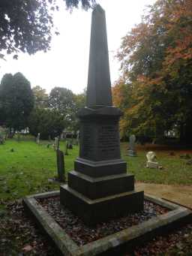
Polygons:
M127 163L122 159L110 161L89 161L77 158L74 161L74 170L92 177L101 177L127 173Z

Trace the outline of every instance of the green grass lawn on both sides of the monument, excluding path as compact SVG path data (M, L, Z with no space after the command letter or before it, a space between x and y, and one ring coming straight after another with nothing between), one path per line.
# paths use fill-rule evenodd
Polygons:
M47 148L46 141L37 145L32 140L7 140L0 146L0 198L13 200L37 192L58 189L59 185L49 182L48 179L56 176L55 151L52 146ZM11 150L13 149L13 150ZM60 143L60 149L65 149L65 143ZM149 148L137 150L136 157L128 157L127 143L121 144L122 157L127 161L127 171L134 173L136 180L164 184L192 184L192 165L187 160L179 158L184 153L179 150L175 155L169 155L172 150L164 149L157 152L157 160L163 170L145 168L145 153ZM13 152L12 152L13 151ZM68 150L65 156L66 173L74 168L74 159L79 148ZM192 151L190 152L192 156Z

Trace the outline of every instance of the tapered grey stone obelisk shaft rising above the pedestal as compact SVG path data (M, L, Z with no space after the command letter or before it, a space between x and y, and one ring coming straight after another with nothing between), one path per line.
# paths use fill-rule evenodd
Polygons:
M87 107L112 106L110 65L105 11L97 5L92 12Z

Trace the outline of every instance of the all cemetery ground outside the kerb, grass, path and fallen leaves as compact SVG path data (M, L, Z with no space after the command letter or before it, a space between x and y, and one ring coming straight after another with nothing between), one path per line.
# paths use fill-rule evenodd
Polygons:
M65 150L64 142L60 143L60 149ZM145 168L145 153L149 150L157 153L157 161L163 167L162 170ZM69 155L65 156L66 173L73 170L78 151L78 146L68 150ZM192 150L146 145L137 148L136 157L128 157L127 143L122 143L121 151L127 161L128 172L135 175L138 186L146 190L150 187L150 194L166 187L167 198L170 200L169 188L175 188L178 194L179 191L185 191L185 198L180 198L180 202L192 207L192 165L189 164ZM186 157L186 154L189 156ZM40 141L40 145L37 145L30 139L7 140L5 145L0 146L0 255L56 254L46 237L26 217L21 203L21 198L28 194L58 190L59 184L48 180L56 175L55 151L48 141ZM133 254L191 255L191 246L192 225L188 224L168 236L160 236L148 242L145 247L136 248Z

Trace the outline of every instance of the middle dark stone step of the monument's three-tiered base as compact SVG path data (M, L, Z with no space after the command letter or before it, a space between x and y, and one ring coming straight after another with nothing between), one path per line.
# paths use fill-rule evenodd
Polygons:
M133 191L134 176L125 173L102 178L92 178L82 173L71 171L68 173L68 185L86 197L97 199Z

